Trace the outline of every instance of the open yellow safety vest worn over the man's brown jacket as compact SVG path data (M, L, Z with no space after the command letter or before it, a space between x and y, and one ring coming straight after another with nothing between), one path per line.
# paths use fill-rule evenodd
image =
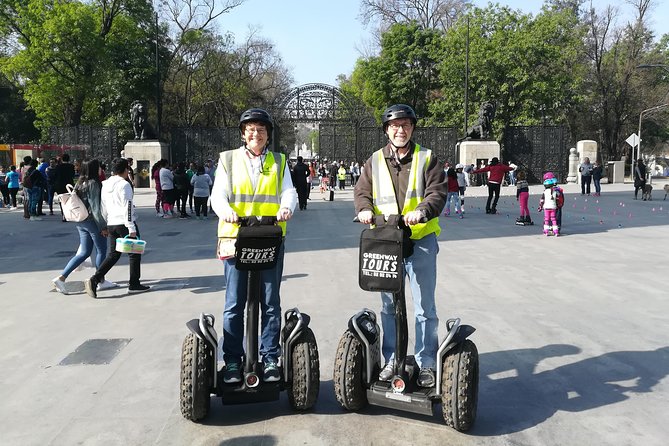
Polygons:
M423 201L423 197L425 196L423 173L427 170L431 158L432 151L430 149L421 149L420 145L416 144L411 161L409 184L407 184L402 215L413 211ZM400 213L397 199L395 198L395 187L393 186L388 164L383 156L383 149L377 150L372 155L372 201L374 203L374 213L377 215L383 214L388 218L389 215ZM428 220L426 223L418 223L411 226L411 238L414 240L422 239L433 232L437 236L441 233L438 217Z

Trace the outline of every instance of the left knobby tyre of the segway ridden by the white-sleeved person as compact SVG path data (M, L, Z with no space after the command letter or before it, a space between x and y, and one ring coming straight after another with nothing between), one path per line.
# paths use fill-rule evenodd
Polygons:
M181 347L181 415L192 421L207 416L214 376L211 347L189 333Z

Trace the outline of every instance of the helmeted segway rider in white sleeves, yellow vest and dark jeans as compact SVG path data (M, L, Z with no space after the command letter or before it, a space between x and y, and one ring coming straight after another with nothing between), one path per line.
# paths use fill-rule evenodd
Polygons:
M244 145L221 152L211 195L211 205L219 216L218 237L234 238L239 230L239 217L276 215L286 235L297 204L297 193L290 178L285 155L268 150L274 125L263 109L252 108L242 113L239 130ZM278 187L277 187L278 186ZM249 193L252 191L253 193ZM262 197L262 200L257 200ZM279 287L283 273L283 244L274 268L261 271L261 337L263 380L278 381L277 360L280 355L279 330L281 303ZM225 267L225 309L223 312L223 381L241 381L241 360L244 356L244 307L246 275L235 268L235 258L223 261Z

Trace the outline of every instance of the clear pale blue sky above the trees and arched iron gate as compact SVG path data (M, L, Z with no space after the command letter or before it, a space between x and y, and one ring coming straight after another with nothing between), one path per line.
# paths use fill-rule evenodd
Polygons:
M477 6L488 1L476 0ZM498 0L496 3L537 14L542 0ZM619 0L593 0L597 10L621 5L619 21L631 10ZM274 43L292 72L295 86L308 83L337 85L339 74L350 75L356 60L369 48L370 29L358 18L359 0L247 0L218 20L219 31L229 31L243 42L249 29ZM625 14L627 13L627 14ZM669 33L669 1L655 0L650 26L656 36Z

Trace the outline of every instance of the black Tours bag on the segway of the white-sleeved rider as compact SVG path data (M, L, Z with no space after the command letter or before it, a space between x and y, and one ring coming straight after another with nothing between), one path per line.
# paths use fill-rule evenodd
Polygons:
M281 226L252 219L242 225L235 244L235 267L240 271L272 269L283 242Z

